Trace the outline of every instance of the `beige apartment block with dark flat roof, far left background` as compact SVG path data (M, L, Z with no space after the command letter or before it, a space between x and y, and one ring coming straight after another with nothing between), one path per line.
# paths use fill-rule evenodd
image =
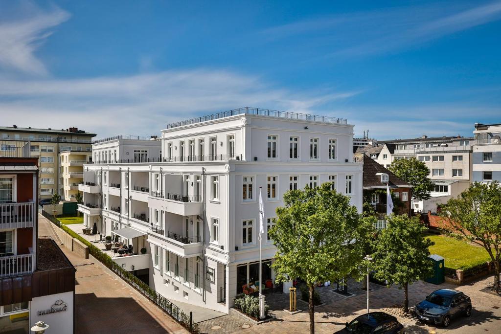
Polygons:
M38 157L40 164L40 199L51 198L52 195L60 191L63 186L61 182L61 170L59 169L60 152L68 150L91 151L91 139L94 133L88 133L77 128L66 130L55 129L35 129L0 127L0 140L9 141L9 144L16 146L16 142L30 141L30 151L32 157ZM5 156L5 150L0 150L0 157ZM60 194L66 199L64 194Z

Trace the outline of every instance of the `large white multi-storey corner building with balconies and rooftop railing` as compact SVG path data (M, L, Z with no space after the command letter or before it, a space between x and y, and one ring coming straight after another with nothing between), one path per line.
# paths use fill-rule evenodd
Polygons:
M331 182L362 210L362 164L352 162L353 125L345 119L241 108L169 124L161 159L123 162L128 145L116 148L118 156L111 149L112 163L93 152L79 210L102 235L118 235L137 254L145 248L146 264L142 255L120 263L146 270L148 284L172 300L227 313L259 280L260 187L266 230L284 193L306 185ZM274 282L276 248L263 238L263 283Z

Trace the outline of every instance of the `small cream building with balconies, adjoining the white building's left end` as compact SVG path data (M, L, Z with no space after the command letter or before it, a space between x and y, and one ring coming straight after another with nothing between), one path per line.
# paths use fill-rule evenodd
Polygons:
M67 201L76 201L78 185L84 181L84 164L92 162L92 152L68 150L59 155L59 194ZM83 193L81 194L83 196Z

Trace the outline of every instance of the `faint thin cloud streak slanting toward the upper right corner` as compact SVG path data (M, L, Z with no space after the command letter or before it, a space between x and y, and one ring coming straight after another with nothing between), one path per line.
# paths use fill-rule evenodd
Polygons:
M468 6L468 7L467 7ZM326 50L325 57L395 52L501 19L501 2L433 3L298 21L261 32L265 40L294 38Z

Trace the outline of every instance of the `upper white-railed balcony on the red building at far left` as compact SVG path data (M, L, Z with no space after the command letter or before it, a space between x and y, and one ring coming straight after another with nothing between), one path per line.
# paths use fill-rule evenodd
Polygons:
M33 227L34 222L34 203L0 204L0 229Z

